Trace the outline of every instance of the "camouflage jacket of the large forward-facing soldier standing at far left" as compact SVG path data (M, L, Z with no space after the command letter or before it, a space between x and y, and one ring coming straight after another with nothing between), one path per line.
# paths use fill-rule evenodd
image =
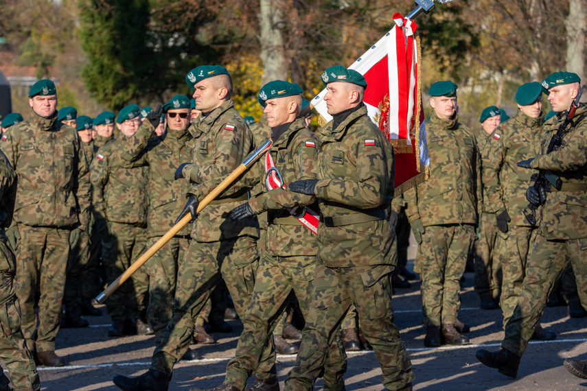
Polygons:
M10 128L0 144L16 175L14 221L27 226L73 228L89 224L89 163L78 132L36 115Z

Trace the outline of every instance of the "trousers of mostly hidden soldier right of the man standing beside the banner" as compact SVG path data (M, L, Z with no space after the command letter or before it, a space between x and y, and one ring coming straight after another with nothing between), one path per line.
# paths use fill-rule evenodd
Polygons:
M494 213L482 213L481 239L475 241L475 291L490 294L494 300L500 297L502 283L501 262L496 254L499 232Z

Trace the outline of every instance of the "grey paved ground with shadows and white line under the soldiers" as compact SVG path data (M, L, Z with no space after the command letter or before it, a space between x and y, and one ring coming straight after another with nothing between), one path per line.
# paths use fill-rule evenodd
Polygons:
M411 248L410 254L414 254ZM412 263L408 265L411 268ZM472 345L424 348L419 281L411 289L398 289L394 296L395 324L412 359L416 390L585 390L587 380L574 377L562 366L566 357L587 358L587 319L571 319L566 307L546 307L542 325L558 333L557 340L531 343L522 359L518 379L511 380L497 370L477 362L479 346L498 349L503 331L499 310L481 311L472 288L473 274L465 273L459 318L472 326ZM105 309L103 310L105 312ZM58 353L65 356L65 368L40 367L43 390L117 390L115 375L140 375L148 369L154 348L153 337L109 338L108 317L88 317L88 329L63 329L58 334ZM211 387L222 383L228 359L233 357L240 321L231 321L235 331L214 334L218 343L198 346L202 360L176 366L170 390ZM299 343L299 342L298 342ZM371 351L348 353L347 390L382 390L380 368ZM281 387L295 356L278 356ZM252 381L252 379L251 379ZM316 383L321 389L322 382Z

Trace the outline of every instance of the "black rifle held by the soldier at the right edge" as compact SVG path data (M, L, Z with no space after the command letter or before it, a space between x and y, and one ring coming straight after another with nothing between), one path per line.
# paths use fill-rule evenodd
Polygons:
M577 110L577 107L579 107L579 99L581 99L582 93L583 87L579 88L577 97L571 103L571 108L562 112L564 120L559 124L556 133L553 134L551 142L549 143L549 147L546 148L546 154L559 149L560 145L562 144L562 137L566 133L565 129L569 124L571 127L575 126L573 117L575 117L575 111ZM536 189L536 191L538 191L538 194L541 194L542 191L550 191L551 186L555 187L557 190L560 190L562 187L562 180L560 180L559 176L554 174L553 171L549 169L540 169L538 174L535 175L536 179L534 180L534 184L532 186L534 189ZM526 220L530 223L531 226L536 226L536 209L538 209L538 206L540 205L542 205L542 202L539 204L530 202L527 208L524 209Z

